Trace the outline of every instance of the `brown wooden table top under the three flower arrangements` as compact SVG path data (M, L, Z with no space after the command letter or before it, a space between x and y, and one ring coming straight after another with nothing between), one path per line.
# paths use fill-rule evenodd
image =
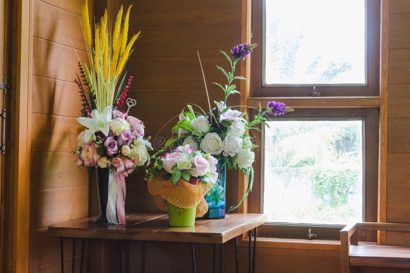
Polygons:
M232 213L224 219L198 218L194 226L175 227L168 223L168 214L131 213L126 225L97 224L97 216L49 226L51 236L169 241L193 243L224 243L265 223L263 214Z

